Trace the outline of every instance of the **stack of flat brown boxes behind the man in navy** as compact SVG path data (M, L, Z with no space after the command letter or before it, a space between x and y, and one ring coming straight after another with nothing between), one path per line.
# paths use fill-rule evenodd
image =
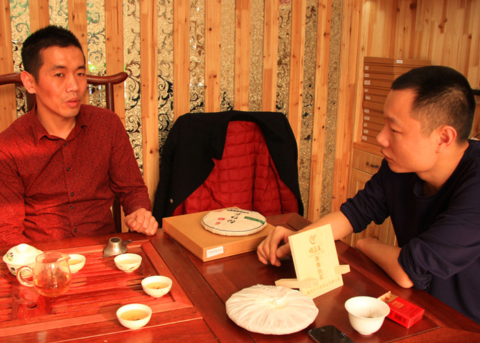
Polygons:
M363 67L363 119L361 140L373 145L385 124L383 105L392 82L413 68L430 65L427 60L365 57Z

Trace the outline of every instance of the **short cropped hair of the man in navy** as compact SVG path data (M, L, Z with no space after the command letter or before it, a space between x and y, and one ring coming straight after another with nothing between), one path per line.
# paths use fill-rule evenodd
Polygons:
M468 139L476 104L464 75L444 66L420 67L400 75L392 83L393 91L402 89L416 93L411 115L422 124L423 134L448 125L457 130L458 142Z

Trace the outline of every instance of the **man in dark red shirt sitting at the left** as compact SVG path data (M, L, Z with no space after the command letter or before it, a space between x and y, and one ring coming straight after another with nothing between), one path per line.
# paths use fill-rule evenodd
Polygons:
M81 104L86 64L77 38L61 27L39 29L22 59L36 105L0 133L0 241L115 233L116 195L126 226L154 235L158 223L119 117Z

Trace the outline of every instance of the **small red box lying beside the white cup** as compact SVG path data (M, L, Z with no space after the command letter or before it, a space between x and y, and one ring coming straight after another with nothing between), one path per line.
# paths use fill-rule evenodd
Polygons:
M409 301L387 292L380 297L390 307L387 318L403 325L407 329L423 318L424 309L413 305Z

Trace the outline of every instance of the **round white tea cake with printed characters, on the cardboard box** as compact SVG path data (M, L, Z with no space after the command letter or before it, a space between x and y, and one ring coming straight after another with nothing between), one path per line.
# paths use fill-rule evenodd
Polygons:
M217 235L247 236L259 232L267 220L258 212L241 209L221 209L208 212L202 226Z

